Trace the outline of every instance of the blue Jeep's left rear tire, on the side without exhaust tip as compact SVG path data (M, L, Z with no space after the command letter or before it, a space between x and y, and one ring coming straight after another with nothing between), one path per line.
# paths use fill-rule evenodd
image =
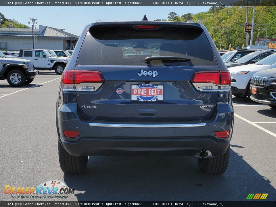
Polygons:
M64 147L58 142L58 158L60 168L66 174L81 174L87 167L88 156L70 155Z

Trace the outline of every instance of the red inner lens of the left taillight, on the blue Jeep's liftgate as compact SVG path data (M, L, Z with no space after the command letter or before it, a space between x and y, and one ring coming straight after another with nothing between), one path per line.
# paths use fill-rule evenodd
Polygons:
M104 77L99 71L75 70L74 83L103 83Z

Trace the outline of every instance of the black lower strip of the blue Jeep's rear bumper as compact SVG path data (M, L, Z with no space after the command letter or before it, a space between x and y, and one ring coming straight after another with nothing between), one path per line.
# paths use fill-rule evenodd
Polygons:
M184 139L116 139L81 138L77 142L60 138L63 147L72 155L187 155L194 156L202 150L210 150L212 155L221 155L230 140L216 142L212 138Z

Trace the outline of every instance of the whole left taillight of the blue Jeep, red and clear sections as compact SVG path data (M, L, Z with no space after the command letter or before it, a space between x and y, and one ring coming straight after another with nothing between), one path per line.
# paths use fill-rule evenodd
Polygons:
M99 71L64 70L61 78L63 91L96 91L104 83Z

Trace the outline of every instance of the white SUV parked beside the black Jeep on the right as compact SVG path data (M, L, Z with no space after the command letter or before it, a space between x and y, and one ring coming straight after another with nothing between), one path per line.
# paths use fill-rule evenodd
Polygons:
M276 68L276 53L265 57L255 64L228 68L231 74L232 94L236 97L250 97L250 81L253 74L260 70L271 68Z

